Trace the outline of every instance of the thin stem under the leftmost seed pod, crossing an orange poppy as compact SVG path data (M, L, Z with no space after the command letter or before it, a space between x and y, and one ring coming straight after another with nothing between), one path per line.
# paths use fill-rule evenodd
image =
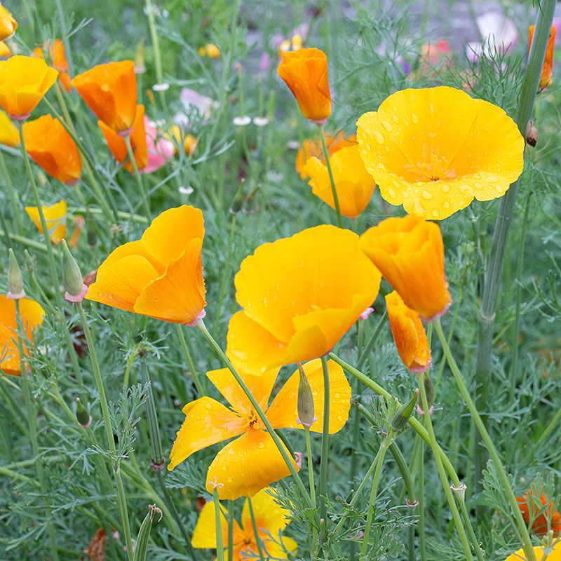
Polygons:
M23 324L22 324L22 317L20 315L19 299L16 299L15 301L15 320L18 325L18 334L17 334L18 352L20 353L20 370L21 370L22 384L23 384L22 391L23 391L23 397L25 399L25 410L27 412L27 425L29 426L29 440L31 440L35 470L37 472L37 479L39 480L39 487L41 488L41 494L44 497L46 497L48 496L46 478L45 478L45 472L43 471L43 463L39 458L39 441L37 440L37 425L36 425L37 412L31 395L31 379L29 379L29 377L25 372L26 371L25 358L24 358L25 355L23 353L23 342L22 342ZM45 502L43 508L45 508L46 516L49 519L47 522L47 529L48 529L48 536L49 536L49 543L50 543L50 555L53 556L53 561L58 561L55 525L53 524L53 520L50 518L50 506L48 502Z

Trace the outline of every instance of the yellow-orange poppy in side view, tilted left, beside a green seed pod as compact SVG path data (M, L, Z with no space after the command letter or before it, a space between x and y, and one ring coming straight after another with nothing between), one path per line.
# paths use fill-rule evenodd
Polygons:
M109 254L86 299L170 323L194 324L206 304L204 236L201 210L187 205L165 210L140 240Z

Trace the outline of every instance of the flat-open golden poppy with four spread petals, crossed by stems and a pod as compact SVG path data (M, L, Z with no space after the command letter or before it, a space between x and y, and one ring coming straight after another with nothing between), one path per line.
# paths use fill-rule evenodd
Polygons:
M351 407L351 386L342 368L330 360L327 363L330 378L330 433L343 428ZM323 369L321 360L303 365L313 393L313 405L318 420L311 431L321 432L323 427ZM276 370L265 375L241 374L243 381L265 411L273 428L304 428L297 423L297 394L300 381L296 371L280 388L270 407L269 396L276 380ZM237 499L253 496L273 481L290 475L275 442L266 432L262 421L252 410L250 401L227 368L212 370L208 378L215 384L231 409L212 398L204 397L188 403L183 408L185 420L170 453L168 469L172 470L194 452L236 438L227 444L208 468L207 489L212 493L213 483L220 484L220 499ZM288 453L288 451L287 451ZM290 454L288 454L290 456ZM294 462L296 468L296 464Z

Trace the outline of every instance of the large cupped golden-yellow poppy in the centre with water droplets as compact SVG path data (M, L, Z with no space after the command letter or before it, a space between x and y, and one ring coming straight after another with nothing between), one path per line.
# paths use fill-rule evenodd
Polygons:
M380 280L349 230L317 226L259 246L234 279L243 310L230 320L230 359L266 372L325 355L374 302Z

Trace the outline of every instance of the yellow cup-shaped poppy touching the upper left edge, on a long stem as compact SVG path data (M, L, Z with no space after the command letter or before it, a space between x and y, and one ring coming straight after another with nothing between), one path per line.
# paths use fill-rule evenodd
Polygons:
M17 121L27 119L57 80L58 72L36 57L0 60L0 105Z

